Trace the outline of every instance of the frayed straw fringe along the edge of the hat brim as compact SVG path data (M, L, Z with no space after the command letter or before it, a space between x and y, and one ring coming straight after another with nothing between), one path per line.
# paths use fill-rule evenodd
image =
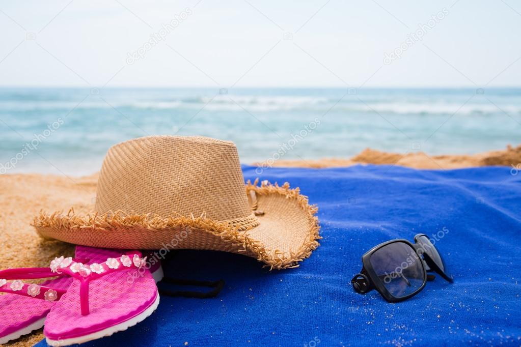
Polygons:
M251 253L258 261L264 262L271 269L283 269L298 267L299 262L308 258L309 255L319 246L317 240L321 239L319 235L320 226L316 213L318 208L316 205L309 205L306 196L300 194L299 188L290 189L289 183L282 186L271 185L264 181L261 186L257 186L258 179L252 183L247 182L246 193L251 190L261 196L279 195L287 199L296 200L300 208L305 212L308 219L308 234L302 246L296 252L290 250L289 256L284 256L283 252L275 250L274 254L269 254L271 250L266 249L261 242L251 239L247 236L247 230L240 230L240 226L232 226L226 222L215 222L207 219L205 215L200 217L183 217L170 216L164 218L159 215L151 214L126 214L123 211L107 212L105 214L88 214L86 216L76 215L71 208L67 215L55 212L51 215L40 211L40 214L34 217L31 224L42 236L47 236L51 232L63 232L72 229L98 229L110 232L112 230L131 230L131 229L148 229L152 231L161 231L170 228L189 227L201 232L218 236L221 239L233 243L237 247L242 247L239 252Z

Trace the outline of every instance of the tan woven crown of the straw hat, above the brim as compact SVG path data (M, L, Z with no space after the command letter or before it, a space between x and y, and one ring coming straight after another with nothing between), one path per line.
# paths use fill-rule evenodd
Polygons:
M111 147L103 161L96 211L250 216L237 147L208 137L147 136Z

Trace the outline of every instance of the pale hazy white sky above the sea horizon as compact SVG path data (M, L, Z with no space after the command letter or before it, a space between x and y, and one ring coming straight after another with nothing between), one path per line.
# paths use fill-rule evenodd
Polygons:
M1 1L0 85L513 86L520 34L514 0Z

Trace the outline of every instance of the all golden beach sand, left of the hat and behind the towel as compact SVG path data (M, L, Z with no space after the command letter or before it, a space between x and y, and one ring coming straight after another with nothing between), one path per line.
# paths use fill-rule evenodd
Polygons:
M476 155L429 156L423 152L387 153L366 149L351 159L278 160L273 166L325 168L354 164L394 164L418 169L455 169L470 166L521 163L521 146ZM40 210L76 212L94 208L97 174L75 178L40 174L0 175L0 244L3 246L1 268L48 266L59 255L72 255L73 246L64 242L43 240L30 223ZM42 330L22 337L10 345L29 346L43 338Z

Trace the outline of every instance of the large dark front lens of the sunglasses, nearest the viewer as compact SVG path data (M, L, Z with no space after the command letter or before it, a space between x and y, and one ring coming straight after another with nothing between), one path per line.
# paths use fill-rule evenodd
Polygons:
M418 255L405 242L383 246L369 259L384 287L395 298L416 292L424 284L424 269Z

